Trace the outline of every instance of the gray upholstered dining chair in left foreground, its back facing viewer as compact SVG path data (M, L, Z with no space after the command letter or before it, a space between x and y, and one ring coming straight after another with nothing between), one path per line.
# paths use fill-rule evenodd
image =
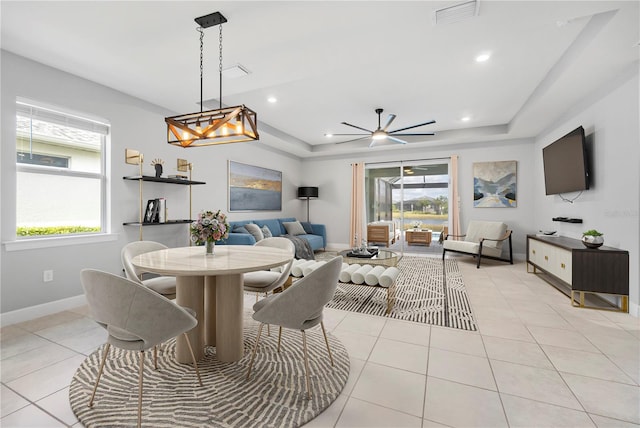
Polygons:
M198 363L186 334L198 324L191 313L193 311L178 306L141 284L108 272L84 269L80 279L92 318L108 333L89 407L93 406L111 345L140 352L138 427L142 423L144 352L147 349L183 334L191 351L198 382L202 386ZM157 368L157 360L154 360L154 364Z

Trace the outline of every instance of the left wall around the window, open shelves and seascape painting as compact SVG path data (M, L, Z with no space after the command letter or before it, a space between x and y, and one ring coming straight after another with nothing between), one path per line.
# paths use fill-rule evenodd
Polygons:
M163 159L164 173L176 173L177 158L193 162L193 179L207 182L193 187L194 215L201 209L227 211L227 161L229 159L283 171L283 207L281 212L260 213L260 217L306 216L302 201L296 199L300 163L296 158L279 154L260 143L230 144L219 147L182 149L166 143L164 117L169 112L113 89L78 78L42 64L1 51L1 181L0 239L15 237L15 102L28 98L67 110L84 112L111 123L111 232L107 242L64 247L7 251L2 245L1 308L4 315L48 302L82 294L79 272L92 267L120 273L120 249L138 239L138 228L123 226L138 218L138 183L122 180L135 175L138 167L124 162L125 148L141 151L145 156L145 174L154 174L150 162ZM69 189L73 191L74 189ZM187 186L145 183L144 198L166 197L169 218L188 218ZM255 218L257 213L233 214L233 219ZM187 225L153 226L144 229L145 239L170 246L188 243ZM43 282L43 271L54 271L53 282Z

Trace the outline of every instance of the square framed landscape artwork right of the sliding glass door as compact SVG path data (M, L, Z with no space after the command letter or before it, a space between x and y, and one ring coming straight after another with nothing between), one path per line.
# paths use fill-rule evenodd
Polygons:
M517 206L516 161L473 163L473 206L515 208Z

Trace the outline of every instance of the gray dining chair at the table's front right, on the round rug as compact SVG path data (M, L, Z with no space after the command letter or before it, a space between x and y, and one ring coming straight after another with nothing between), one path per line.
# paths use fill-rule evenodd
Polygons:
M307 354L307 336L305 330L318 324L322 327L324 341L327 344L329 360L333 366L333 356L329 347L329 340L322 322L324 306L331 301L338 286L338 277L342 268L342 257L334 257L326 264L311 272L304 278L294 282L282 293L272 294L253 305L253 319L260 322L258 337L256 338L249 368L247 380L251 377L251 368L258 350L258 343L265 324L280 326L278 334L278 352L280 351L280 339L282 328L300 330L302 332L302 351L304 355L304 371L307 387L307 397L311 398L309 380L309 356Z

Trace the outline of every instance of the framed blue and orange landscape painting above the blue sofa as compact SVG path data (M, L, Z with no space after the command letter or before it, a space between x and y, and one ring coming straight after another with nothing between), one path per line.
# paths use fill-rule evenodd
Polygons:
M282 172L229 161L229 212L282 210Z

